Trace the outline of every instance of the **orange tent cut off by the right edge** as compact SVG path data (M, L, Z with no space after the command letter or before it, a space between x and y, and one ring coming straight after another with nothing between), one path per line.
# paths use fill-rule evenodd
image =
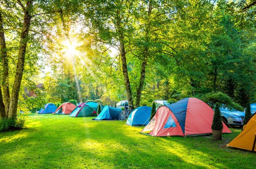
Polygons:
M256 151L256 113L254 113L243 126L241 133L227 144L229 147L236 147L250 151Z

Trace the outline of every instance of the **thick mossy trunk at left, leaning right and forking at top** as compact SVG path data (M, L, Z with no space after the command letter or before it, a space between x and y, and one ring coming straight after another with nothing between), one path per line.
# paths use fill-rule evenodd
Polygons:
M21 3L19 3L19 5L23 9L24 20L23 20L22 33L20 36L20 47L19 47L19 54L18 54L18 62L16 66L16 74L14 78L13 90L12 90L12 95L10 99L9 118L17 118L19 90L20 90L20 84L21 84L23 70L24 70L27 42L29 39L28 33L29 33L29 27L30 27L30 22L32 17L30 12L31 12L33 3L32 3L32 0L30 0L27 2L26 7L24 7Z

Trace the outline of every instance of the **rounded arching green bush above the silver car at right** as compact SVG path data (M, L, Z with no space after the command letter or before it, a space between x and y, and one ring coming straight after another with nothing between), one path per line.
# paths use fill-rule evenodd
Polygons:
M202 95L200 99L207 103L211 108L214 108L216 103L220 103L225 104L229 108L233 107L239 111L243 111L242 106L233 102L233 100L227 94L222 92L210 92Z

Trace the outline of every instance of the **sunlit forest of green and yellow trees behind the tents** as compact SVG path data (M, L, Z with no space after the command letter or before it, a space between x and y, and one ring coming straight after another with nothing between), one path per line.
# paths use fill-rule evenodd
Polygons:
M70 99L138 107L215 93L245 107L256 102L255 4L1 0L1 117Z

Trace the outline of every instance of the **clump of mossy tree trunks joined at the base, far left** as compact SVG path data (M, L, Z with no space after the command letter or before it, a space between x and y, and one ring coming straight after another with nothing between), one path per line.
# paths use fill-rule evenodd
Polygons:
M0 11L0 29L1 29L1 36L0 36L0 43L1 43L1 56L2 56L2 62L3 62L3 94L4 94L4 106L5 106L5 117L9 118L16 118L17 117L17 104L18 104L18 98L19 98L19 90L20 90L20 84L22 81L22 75L24 70L24 63L25 63L25 53L27 49L27 42L29 40L29 28L30 28L30 22L31 18L33 17L32 11L33 11L33 2L32 0L28 0L26 5L24 6L20 1L17 1L18 5L22 9L22 12L24 14L23 18L23 27L20 34L20 44L19 44L19 52L18 52L18 62L16 66L16 74L14 78L13 83L13 90L10 95L9 93L9 81L8 81L8 55L6 50L6 42L5 42L5 36L4 36L4 23L1 16L2 10ZM2 93L0 93L2 95ZM3 104L1 104L3 105ZM3 107L1 108L1 110ZM1 113L3 114L3 113Z

